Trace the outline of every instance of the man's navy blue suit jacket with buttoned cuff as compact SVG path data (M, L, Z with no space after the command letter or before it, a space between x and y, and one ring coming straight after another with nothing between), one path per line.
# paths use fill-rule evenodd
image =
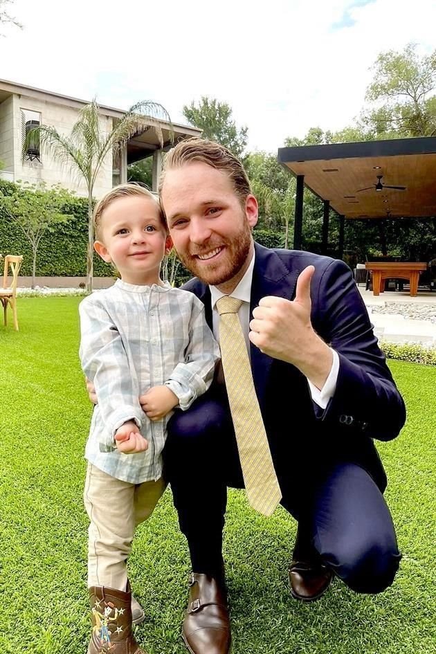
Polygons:
M293 300L298 275L314 265L311 320L339 356L336 392L325 410L311 399L305 376L251 344L251 367L275 469L304 482L311 472L338 462L367 470L381 491L386 476L373 439L396 437L406 419L403 399L377 345L348 266L310 252L272 250L255 244L251 314L264 296ZM206 307L212 326L210 289L197 278L185 284Z

